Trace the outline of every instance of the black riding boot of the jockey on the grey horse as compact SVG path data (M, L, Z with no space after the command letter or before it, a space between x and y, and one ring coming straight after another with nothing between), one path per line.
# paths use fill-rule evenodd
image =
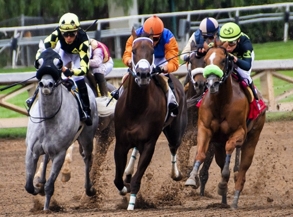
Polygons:
M75 83L78 88L79 96L80 96L81 103L83 106L82 109L84 111L84 112L82 112L82 115L81 115L81 121L84 121L86 125L91 126L93 124L93 122L92 122L92 118L91 118L90 101L89 101L85 81L84 81L84 79L80 79L80 80L75 81Z

